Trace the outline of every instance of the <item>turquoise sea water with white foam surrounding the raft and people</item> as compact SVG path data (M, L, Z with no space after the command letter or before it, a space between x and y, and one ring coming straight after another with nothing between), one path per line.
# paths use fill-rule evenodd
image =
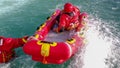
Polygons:
M120 0L0 0L0 35L32 35L37 26L55 9L62 9L66 2L90 15L86 47L60 65L32 61L22 48L18 48L18 57L7 64L0 64L0 68L119 68Z

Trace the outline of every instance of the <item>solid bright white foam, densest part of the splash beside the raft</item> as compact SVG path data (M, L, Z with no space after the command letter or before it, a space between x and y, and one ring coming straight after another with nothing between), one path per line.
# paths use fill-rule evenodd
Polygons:
M98 33L90 30L83 68L105 68L105 58L107 58L111 44L99 37Z

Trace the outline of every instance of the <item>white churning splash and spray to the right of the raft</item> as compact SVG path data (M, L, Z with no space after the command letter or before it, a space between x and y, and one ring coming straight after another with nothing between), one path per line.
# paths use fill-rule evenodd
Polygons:
M95 18L90 19L90 22L83 68L119 68L120 40L115 31L117 23L111 25Z

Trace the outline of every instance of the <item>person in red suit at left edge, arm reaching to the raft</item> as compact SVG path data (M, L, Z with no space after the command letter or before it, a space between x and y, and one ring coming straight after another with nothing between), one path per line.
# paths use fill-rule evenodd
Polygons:
M15 48L22 47L28 36L22 38L6 38L0 36L0 63L6 63L15 57Z

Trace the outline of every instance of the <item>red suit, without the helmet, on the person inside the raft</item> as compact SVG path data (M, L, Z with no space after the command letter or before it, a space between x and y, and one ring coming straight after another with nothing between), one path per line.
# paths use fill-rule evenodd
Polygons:
M62 29L64 30L76 29L80 24L79 17L80 17L80 10L76 6L74 6L73 12L71 13L66 13L63 10L60 15L57 32L61 31Z

